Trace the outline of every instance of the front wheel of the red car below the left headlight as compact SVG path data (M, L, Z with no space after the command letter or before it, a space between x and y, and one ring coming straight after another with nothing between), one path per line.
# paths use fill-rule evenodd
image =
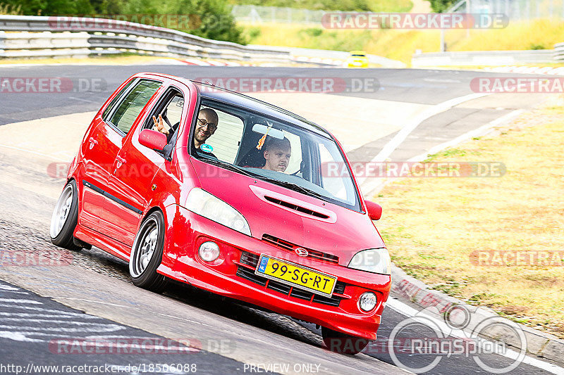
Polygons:
M154 243L153 243L154 242ZM154 211L141 223L129 260L129 274L135 286L161 293L168 284L166 277L157 273L164 246L164 216Z

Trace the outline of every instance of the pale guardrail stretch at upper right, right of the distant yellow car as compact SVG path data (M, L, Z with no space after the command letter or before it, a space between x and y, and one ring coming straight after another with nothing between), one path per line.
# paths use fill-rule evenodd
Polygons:
M564 43L555 49L530 51L460 51L416 53L412 56L413 68L428 66L513 65L519 63L558 63L564 61Z

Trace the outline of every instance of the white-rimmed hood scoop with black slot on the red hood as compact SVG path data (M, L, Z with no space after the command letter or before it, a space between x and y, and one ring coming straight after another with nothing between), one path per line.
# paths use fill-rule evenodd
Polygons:
M314 205L297 198L292 198L281 193L276 193L276 191L264 189L259 186L249 185L249 188L262 201L270 203L271 205L276 205L283 210L293 212L303 217L309 217L310 219L321 220L323 222L334 223L337 221L336 213L328 210L327 208L319 207L318 205Z

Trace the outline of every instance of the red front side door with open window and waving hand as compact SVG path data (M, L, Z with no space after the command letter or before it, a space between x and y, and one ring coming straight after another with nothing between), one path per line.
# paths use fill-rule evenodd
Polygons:
M169 163L165 156L157 151L142 146L139 143L139 134L143 129L152 129L153 115L158 118L162 115L166 124L178 129L180 124L184 96L180 90L167 87L164 93L154 103L150 103L140 115L140 121L135 125L135 130L123 144L118 153L116 168L110 177L109 189L115 192L116 198L123 201L121 205L109 205L110 215L113 215L113 224L116 226L114 238L128 246L133 246L137 227L139 226L140 213L147 207L147 201L154 189L166 189L163 183L153 182L153 177L164 163ZM172 130L169 130L172 132ZM173 134L171 134L172 136ZM173 138L169 137L173 142Z

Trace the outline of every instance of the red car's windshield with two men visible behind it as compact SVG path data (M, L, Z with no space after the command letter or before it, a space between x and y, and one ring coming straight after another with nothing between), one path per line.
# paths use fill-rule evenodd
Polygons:
M355 184L331 136L202 98L192 155L323 201L360 211Z

